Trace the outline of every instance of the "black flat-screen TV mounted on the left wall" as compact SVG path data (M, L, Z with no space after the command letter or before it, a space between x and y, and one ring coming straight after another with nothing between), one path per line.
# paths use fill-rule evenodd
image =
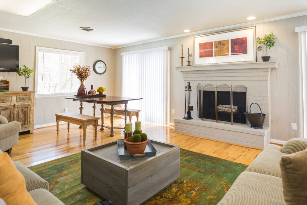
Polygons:
M0 71L17 72L19 67L19 45L0 43Z

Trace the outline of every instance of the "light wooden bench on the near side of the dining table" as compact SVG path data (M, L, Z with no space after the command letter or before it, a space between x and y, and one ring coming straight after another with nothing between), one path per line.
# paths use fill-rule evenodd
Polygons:
M56 134L59 134L59 122L67 122L67 131L69 132L69 123L77 124L83 127L83 144L85 144L86 128L88 125L94 125L95 127L95 140L97 139L97 127L99 117L83 115L74 112L62 112L56 113Z

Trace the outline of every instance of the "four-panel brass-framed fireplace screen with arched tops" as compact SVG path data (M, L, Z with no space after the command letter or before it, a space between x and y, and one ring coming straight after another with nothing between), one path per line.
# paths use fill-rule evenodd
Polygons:
M247 87L236 84L197 85L197 115L202 120L247 124Z

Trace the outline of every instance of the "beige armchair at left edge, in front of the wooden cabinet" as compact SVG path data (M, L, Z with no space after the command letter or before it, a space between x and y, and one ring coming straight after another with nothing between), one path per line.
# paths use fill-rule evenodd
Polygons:
M12 147L18 144L20 128L20 122L8 122L4 116L0 115L0 150L2 152L8 154L12 152Z

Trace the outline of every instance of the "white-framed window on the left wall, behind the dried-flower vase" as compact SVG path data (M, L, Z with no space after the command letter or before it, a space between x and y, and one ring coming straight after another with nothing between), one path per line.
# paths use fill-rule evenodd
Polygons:
M69 69L84 64L85 53L36 47L35 91L37 96L71 95L76 93L80 80Z

